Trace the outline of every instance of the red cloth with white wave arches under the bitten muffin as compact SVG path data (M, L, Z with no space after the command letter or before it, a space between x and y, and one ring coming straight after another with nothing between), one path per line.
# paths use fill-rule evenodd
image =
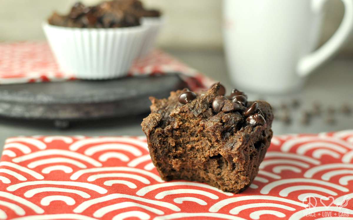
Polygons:
M0 219L353 217L353 130L275 136L240 194L158 176L145 137L8 138Z

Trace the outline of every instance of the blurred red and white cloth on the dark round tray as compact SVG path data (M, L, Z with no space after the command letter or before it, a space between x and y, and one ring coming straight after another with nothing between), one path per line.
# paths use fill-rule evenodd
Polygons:
M136 61L130 76L182 73L190 89L208 88L213 82L197 70L160 50ZM0 84L74 79L59 70L46 42L0 43Z

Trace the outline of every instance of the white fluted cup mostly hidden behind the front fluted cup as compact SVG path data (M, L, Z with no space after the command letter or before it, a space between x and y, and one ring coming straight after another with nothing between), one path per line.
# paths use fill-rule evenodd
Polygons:
M149 54L155 47L158 34L165 23L164 17L142 17L141 24L147 28L146 37L143 39L142 47L139 53L139 58L143 58Z

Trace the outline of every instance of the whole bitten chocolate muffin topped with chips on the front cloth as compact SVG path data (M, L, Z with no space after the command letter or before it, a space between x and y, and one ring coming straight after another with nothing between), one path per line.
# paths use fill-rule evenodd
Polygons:
M238 193L249 186L270 145L272 108L216 83L168 99L151 97L142 122L151 159L164 180L191 180Z

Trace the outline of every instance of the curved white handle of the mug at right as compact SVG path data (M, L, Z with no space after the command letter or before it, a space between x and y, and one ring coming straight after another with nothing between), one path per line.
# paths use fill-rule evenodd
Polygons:
M323 9L327 0L312 0L312 7L315 11ZM325 61L333 57L339 49L347 42L353 30L353 0L341 0L345 6L345 13L342 22L334 35L320 48L306 55L299 60L297 72L299 76L309 75Z

